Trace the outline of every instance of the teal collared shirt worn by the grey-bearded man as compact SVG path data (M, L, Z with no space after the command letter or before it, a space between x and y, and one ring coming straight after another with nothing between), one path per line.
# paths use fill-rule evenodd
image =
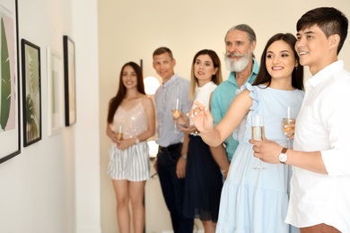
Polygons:
M258 74L258 62L253 58L253 70L246 82L253 83ZM245 82L245 83L246 83ZM236 82L235 73L230 73L228 80L220 83L220 85L213 91L211 113L214 118L214 125L217 125L226 115L227 110L230 108L232 100L236 98L236 91L241 87ZM226 144L226 153L229 160L232 160L234 151L238 146L238 141L234 140L232 134L224 141Z

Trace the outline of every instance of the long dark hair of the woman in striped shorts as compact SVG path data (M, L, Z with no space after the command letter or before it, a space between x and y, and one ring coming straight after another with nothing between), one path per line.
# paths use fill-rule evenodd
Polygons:
M128 66L131 66L133 70L136 72L136 77L137 77L137 91L144 94L144 75L142 74L141 67L137 65L135 62L128 62L127 64L123 65L120 70L119 74L119 88L117 95L113 97L112 99L109 100L109 112L107 116L107 122L111 124L113 122L113 117L114 114L117 111L117 108L119 107L121 101L125 98L127 94L127 88L124 86L123 83L123 71L124 68Z

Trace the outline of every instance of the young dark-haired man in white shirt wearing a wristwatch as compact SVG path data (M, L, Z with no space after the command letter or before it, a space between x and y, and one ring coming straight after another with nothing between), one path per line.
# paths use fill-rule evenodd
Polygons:
M337 60L348 20L335 8L319 7L303 14L296 28L295 49L313 76L306 82L293 150L250 142L260 160L293 166L287 223L302 233L350 232L350 73Z

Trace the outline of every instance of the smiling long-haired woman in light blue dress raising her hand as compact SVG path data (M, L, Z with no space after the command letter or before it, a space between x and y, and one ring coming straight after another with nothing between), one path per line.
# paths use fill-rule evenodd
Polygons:
M242 86L223 120L213 126L207 108L195 102L192 121L210 146L217 146L233 133L240 144L234 153L224 182L216 232L284 233L292 231L284 223L289 200L291 168L284 164L266 164L253 157L252 115L263 115L265 136L286 145L282 120L284 109L299 111L303 99L303 69L294 49L296 39L290 33L278 33L267 41L260 70L253 85ZM277 155L276 155L277 156Z

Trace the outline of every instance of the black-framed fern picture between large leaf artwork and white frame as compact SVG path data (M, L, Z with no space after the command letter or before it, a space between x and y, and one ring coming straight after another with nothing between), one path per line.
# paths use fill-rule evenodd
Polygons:
M23 145L41 140L40 47L22 39Z

